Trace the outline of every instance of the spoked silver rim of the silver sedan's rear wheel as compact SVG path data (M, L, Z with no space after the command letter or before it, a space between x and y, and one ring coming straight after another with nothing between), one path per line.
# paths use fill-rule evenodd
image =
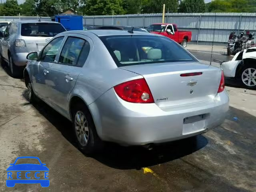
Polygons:
M76 112L74 124L78 142L80 145L86 146L89 139L89 126L88 121L82 111Z

